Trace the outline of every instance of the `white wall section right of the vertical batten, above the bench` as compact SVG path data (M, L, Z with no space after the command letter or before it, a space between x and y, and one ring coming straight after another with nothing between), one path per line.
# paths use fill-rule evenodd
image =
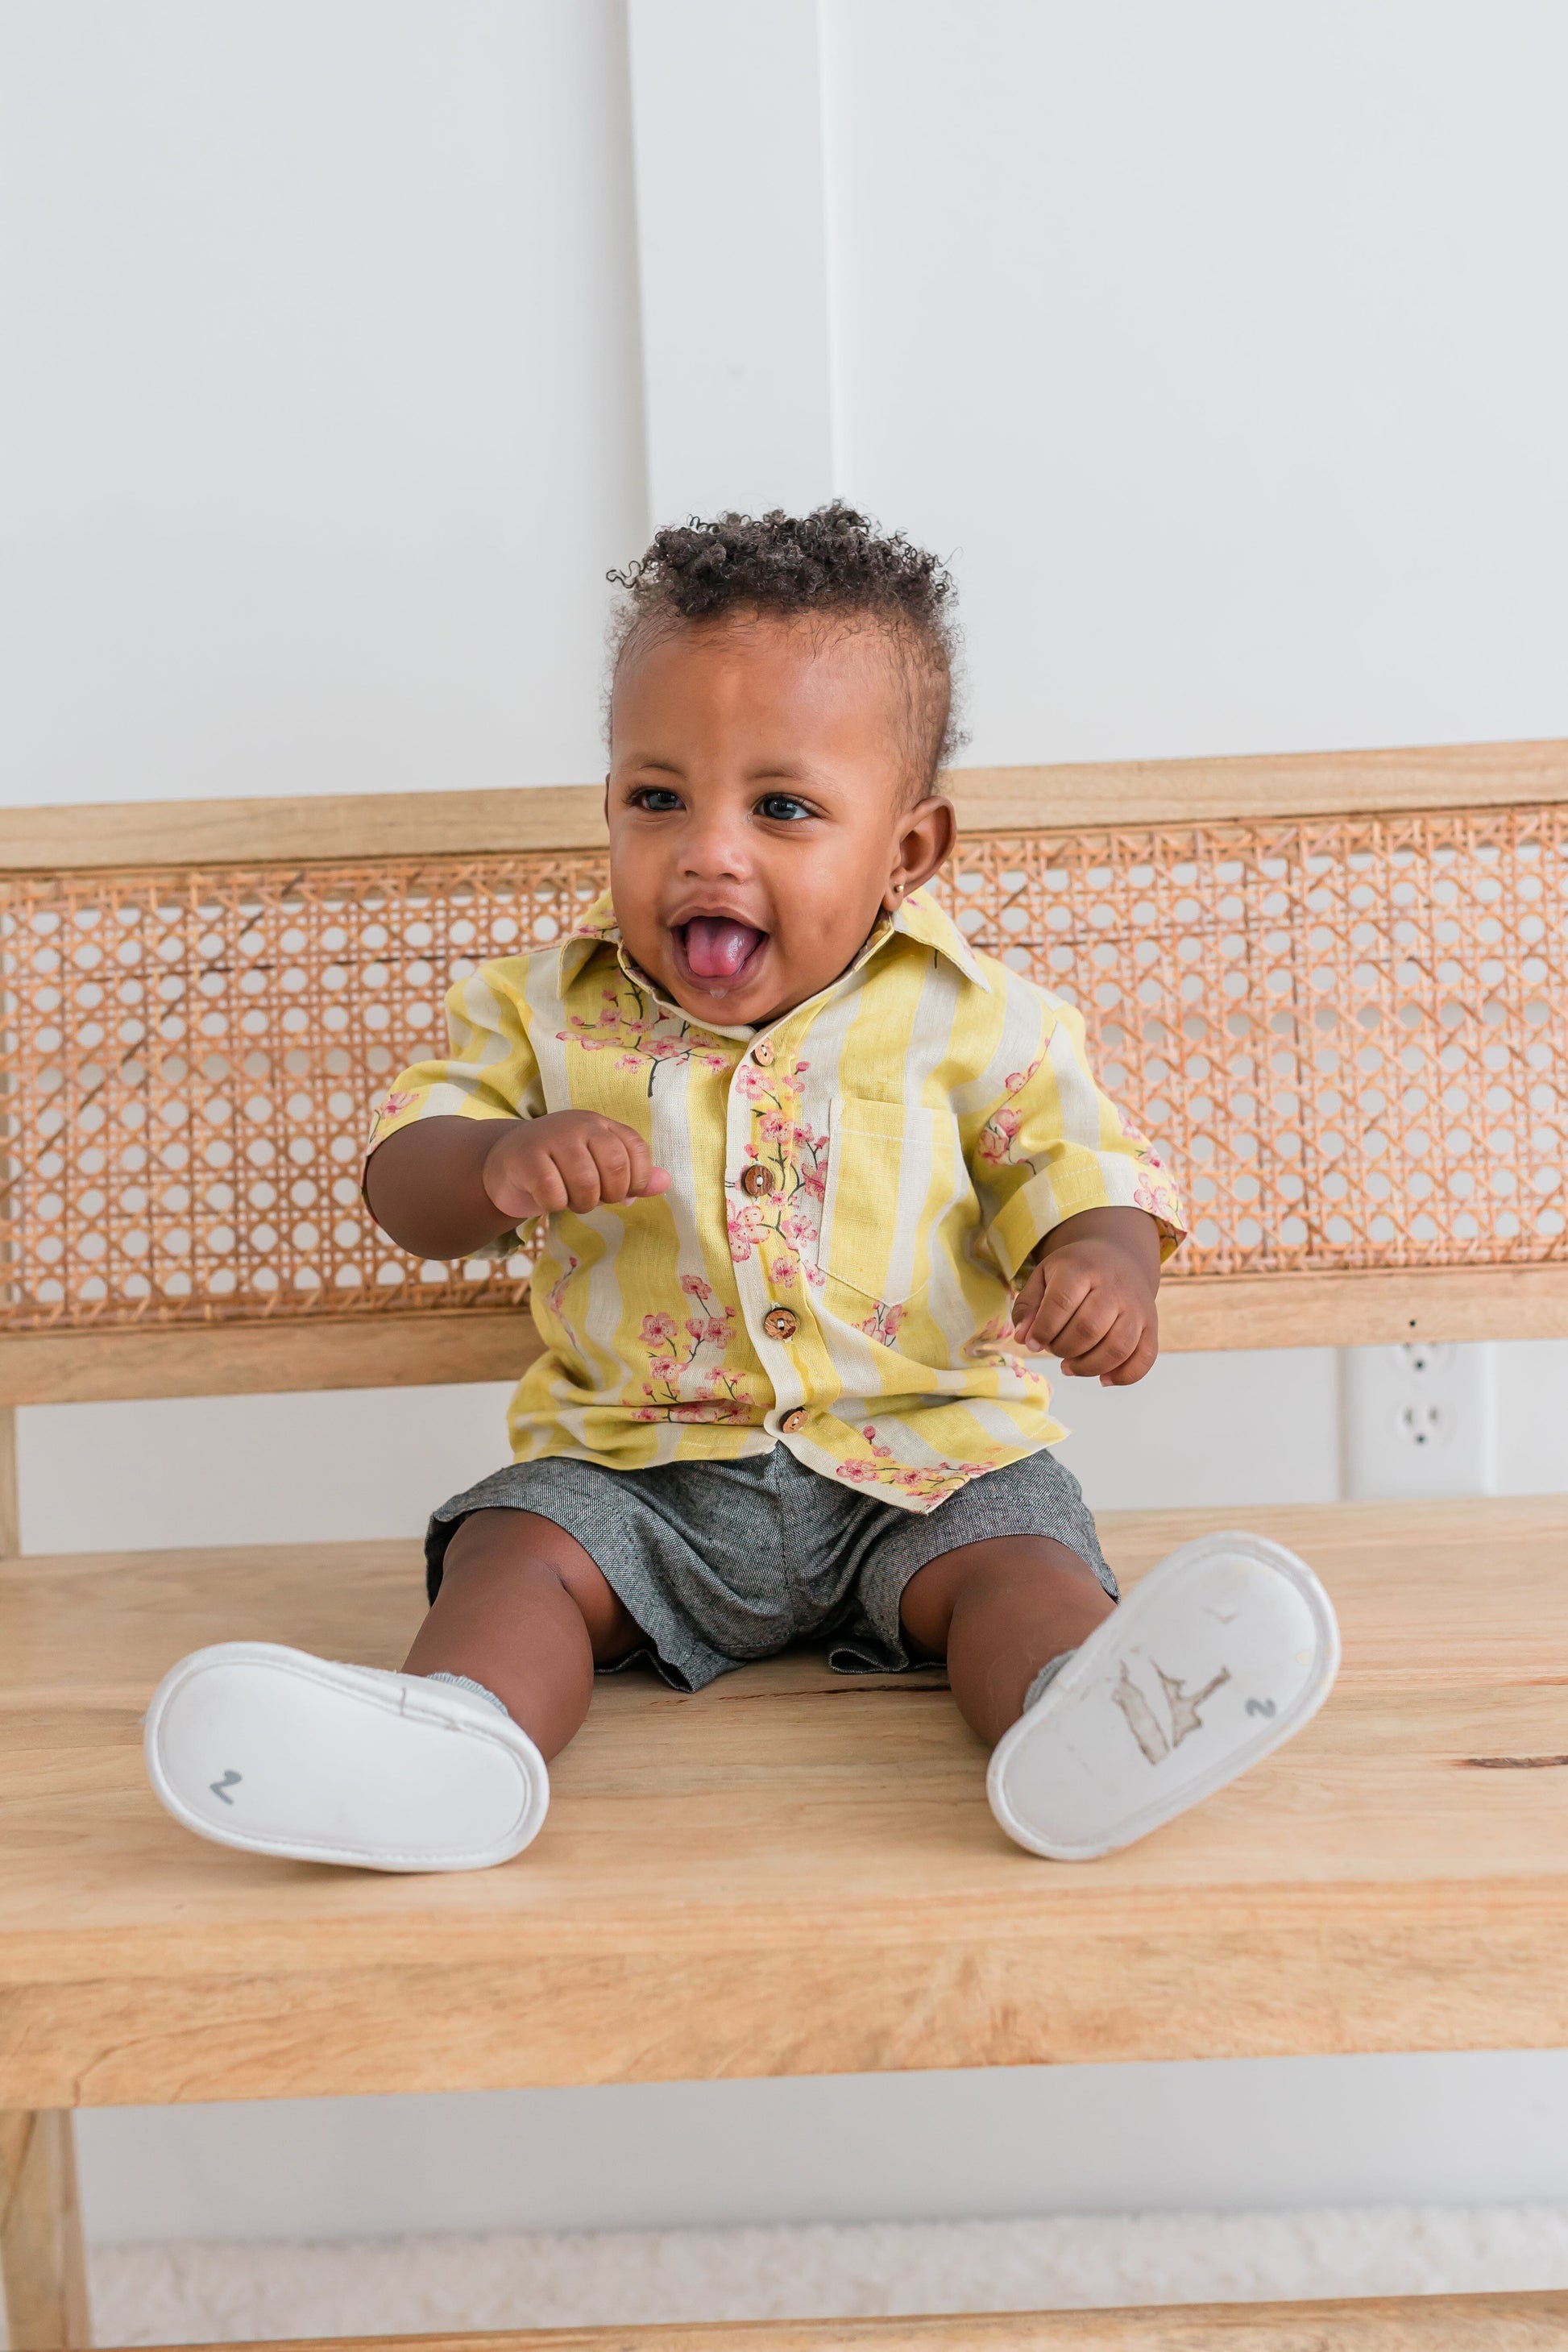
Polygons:
M1561 734L1568 12L830 0L842 477L976 760Z

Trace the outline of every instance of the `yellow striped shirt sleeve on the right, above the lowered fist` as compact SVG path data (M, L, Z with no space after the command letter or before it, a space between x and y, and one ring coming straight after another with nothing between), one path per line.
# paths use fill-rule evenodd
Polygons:
M1060 1000L1048 1004L1039 1058L1009 1077L985 1120L971 1174L990 1254L1009 1282L1020 1279L1048 1232L1084 1209L1145 1209L1159 1225L1161 1261L1187 1232L1159 1152L1095 1084L1084 1016Z

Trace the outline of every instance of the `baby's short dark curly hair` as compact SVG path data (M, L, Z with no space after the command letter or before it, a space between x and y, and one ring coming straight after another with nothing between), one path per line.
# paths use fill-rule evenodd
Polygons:
M947 567L903 532L835 499L809 515L715 515L668 524L654 546L609 579L621 588L611 619L611 691L632 647L668 630L757 616L818 621L823 630L870 623L891 640L905 684L910 797L936 788L961 746L959 633Z

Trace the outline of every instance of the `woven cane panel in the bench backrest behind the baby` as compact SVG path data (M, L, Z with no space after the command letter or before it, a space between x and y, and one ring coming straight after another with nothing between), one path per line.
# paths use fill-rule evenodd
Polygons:
M357 1160L442 990L559 938L597 856L5 889L0 1327L512 1303L418 1265ZM1173 1277L1568 1258L1568 809L969 840L964 931L1088 1016L1182 1176Z

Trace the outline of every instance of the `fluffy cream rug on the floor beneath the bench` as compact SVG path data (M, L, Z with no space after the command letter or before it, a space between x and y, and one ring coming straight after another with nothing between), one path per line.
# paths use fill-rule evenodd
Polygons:
M1568 2286L1568 2206L99 2246L101 2345Z

